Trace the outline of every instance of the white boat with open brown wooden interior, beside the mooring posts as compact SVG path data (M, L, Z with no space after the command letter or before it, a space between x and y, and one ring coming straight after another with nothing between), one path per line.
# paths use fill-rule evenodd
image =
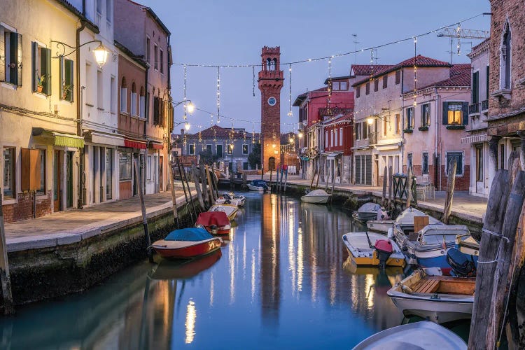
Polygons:
M435 323L472 316L476 279L472 277L431 276L424 269L395 283L388 296L405 316L428 318Z

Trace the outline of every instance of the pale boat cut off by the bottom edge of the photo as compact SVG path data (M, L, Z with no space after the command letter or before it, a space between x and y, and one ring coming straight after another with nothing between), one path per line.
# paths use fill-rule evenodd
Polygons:
M425 349L466 350L467 344L442 325L421 321L398 325L367 337L354 350Z

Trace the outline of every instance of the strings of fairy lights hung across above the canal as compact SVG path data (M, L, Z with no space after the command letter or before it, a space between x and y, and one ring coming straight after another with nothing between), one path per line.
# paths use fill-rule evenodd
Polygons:
M414 68L414 106L417 105L417 102L416 102L416 97L417 97L417 42L418 42L418 38L421 38L423 36L428 36L430 34L433 34L433 33L436 33L437 31L441 31L443 29L446 29L446 28L450 28L450 27L455 27L456 26L456 32L457 33L460 33L461 32L461 23L462 22L468 22L470 20L473 20L475 18L478 18L480 16L484 15L484 13L479 13L477 15L474 15L470 18L466 18L464 20L460 20L458 22L455 22L454 24L452 25L444 25L442 27L439 27L437 29L432 29L430 31L426 31L422 34L418 34L418 35L415 35L415 36L409 36L407 38L401 38L399 40L396 40L396 41L390 41L390 42L387 42L387 43L383 43L381 45L375 45L375 46L371 46L371 47L368 47L368 48L360 48L358 50L352 50L352 51L349 51L349 52L342 52L342 53L339 53L339 54L336 54L336 55L330 55L330 56L324 56L324 57L316 57L316 58L308 58L308 59L300 59L300 60L296 60L296 61L293 61L293 62L285 62L285 63L281 63L283 65L288 65L288 117L293 117L293 112L292 112L292 66L294 64L304 64L304 63L308 63L308 62L317 62L317 61L328 61L328 88L327 88L327 91L328 91L328 99L327 99L327 105L328 105L328 108L330 108L330 104L331 104L331 99L332 99L332 59L336 58L336 57L344 57L344 56L347 56L347 55L353 55L353 54L357 54L357 53L360 53L360 52L365 52L367 50L370 50L370 80L373 80L373 77L374 77L374 74L375 73L378 73L378 71L375 71L375 67L374 67L374 50L377 50L379 48L384 48L386 46L389 46L389 45L395 45L395 44L398 44L398 43L404 43L405 41L410 41L410 40L413 40L414 41L414 65L413 65L413 68ZM460 41L460 37L458 36L457 38L457 52L458 52L458 55L460 55L461 53L461 41ZM187 79L188 79L188 67L211 67L211 68L215 68L216 71L217 71L217 92L216 92L216 106L217 106L217 111L216 111L216 124L219 124L221 123L221 118L223 119L228 119L228 120L231 120L232 122L232 128L229 132L229 141L230 141L230 144L233 144L233 142L235 141L235 129L234 129L234 122L243 122L243 123L252 123L252 137L251 137L251 141L252 141L252 144L255 143L255 123L258 123L258 124L262 124L262 122L260 121L253 121L253 120L242 120L242 119L239 119L239 118L232 118L232 117L229 117L229 116L223 116L221 115L221 69L230 69L230 68L251 68L252 69L252 94L253 96L255 97L255 67L260 67L262 68L262 64L191 64L191 63L180 63L180 62L174 62L174 65L176 66L183 66L183 73L184 73L184 80L183 80L183 84L184 84L184 87L183 87L183 103L184 103L184 115L183 115L183 123L185 123L186 125L186 130L189 129L189 123L188 123L188 116L187 116L187 113L186 113L186 102L187 102L187 97L186 97L186 83L187 83ZM366 107L365 109L361 110L361 111L356 111L354 110L353 113L356 114L356 113L362 113L363 111L368 111L370 110L372 107L368 106ZM194 108L196 111L201 111L201 112L204 112L204 113L209 113L210 115L210 119L211 119L211 127L214 126L214 113L211 113L209 111L205 111L203 109L199 109L199 108ZM337 116L332 116L330 118L326 118L325 121L328 121L330 122L331 120L337 118ZM281 125L288 125L291 127L291 129L293 129L293 133L295 134L295 127L297 126L299 130L301 130L301 123L280 123ZM202 142L202 128L203 128L203 125L195 125L196 127L199 128L199 136L198 136L198 140L200 142ZM272 125L272 130L275 130L274 129L274 123ZM214 141L217 140L217 134L216 134L216 128L214 128ZM273 136L274 138L276 137L276 135ZM244 140L246 141L246 133L244 133ZM260 143L260 138L259 138L259 143ZM186 146L186 137L184 138L184 144ZM292 142L290 142L290 144L292 144ZM293 144L295 144L295 141L293 142Z

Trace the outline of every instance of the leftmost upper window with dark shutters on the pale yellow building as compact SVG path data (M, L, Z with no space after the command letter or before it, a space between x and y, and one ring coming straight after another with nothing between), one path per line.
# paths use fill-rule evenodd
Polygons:
M0 81L22 86L22 35L0 25Z

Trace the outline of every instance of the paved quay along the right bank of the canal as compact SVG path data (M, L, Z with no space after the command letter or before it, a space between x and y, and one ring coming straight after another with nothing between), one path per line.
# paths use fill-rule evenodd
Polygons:
M248 179L260 179L260 176L248 176ZM269 174L263 176L266 181L269 181ZM275 181L275 174L272 176L272 181ZM298 186L310 186L310 180L300 179L299 176L288 176L288 183ZM319 181L318 188L325 188L325 183ZM332 188L332 184L328 184L328 192ZM348 191L356 195L374 195L381 197L383 188L378 186L362 186L352 185L349 183L336 183L335 190ZM444 191L436 191L435 199L419 200L417 205L422 209L443 212L444 200L446 193ZM388 196L388 190L387 190ZM454 192L454 200L452 202L452 215L458 218L463 218L475 223L482 223L486 211L486 198L469 195L466 191Z

